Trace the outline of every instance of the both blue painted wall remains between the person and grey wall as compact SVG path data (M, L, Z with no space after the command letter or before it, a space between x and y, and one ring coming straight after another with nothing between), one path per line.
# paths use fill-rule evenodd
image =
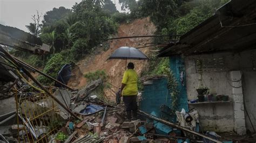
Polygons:
M188 112L187 105L187 94L186 94L186 76L184 69L184 61L180 56L172 56L170 58L170 68L173 72L174 77L176 77L178 82L178 110L185 109ZM180 73L183 74L183 82L180 80ZM167 77L153 78L153 83L144 86L144 91L142 92L142 101L140 102L139 109L151 114L154 112L157 117L176 122L176 116L167 115L160 111L161 105L169 106L172 108L172 98L170 91L167 87Z

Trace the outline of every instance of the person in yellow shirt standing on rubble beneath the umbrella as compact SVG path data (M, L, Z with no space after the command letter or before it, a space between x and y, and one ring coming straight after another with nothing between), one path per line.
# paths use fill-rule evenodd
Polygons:
M127 120L131 120L131 111L132 119L136 120L137 118L138 74L133 69L134 64L129 62L127 70L124 72L121 87Z

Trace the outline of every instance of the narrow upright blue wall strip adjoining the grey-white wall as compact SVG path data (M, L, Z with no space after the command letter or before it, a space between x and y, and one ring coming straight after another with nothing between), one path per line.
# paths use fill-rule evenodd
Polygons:
M170 58L170 69L173 72L174 77L176 77L178 82L178 110L185 109L188 112L187 105L187 89L186 89L186 75L185 75L185 64L184 60L180 55L171 56ZM183 82L181 82L181 72L183 71Z

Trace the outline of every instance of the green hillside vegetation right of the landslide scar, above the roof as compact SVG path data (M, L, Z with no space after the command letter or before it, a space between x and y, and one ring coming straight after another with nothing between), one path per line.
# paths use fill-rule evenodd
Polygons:
M142 18L150 17L156 25L155 34L163 35L182 35L213 15L215 9L228 2L228 0L120 0L122 8L130 9L130 17ZM170 39L179 37L155 38L155 44L169 42ZM150 56L149 70L144 70L144 75L164 74L169 68L167 58L155 58Z

